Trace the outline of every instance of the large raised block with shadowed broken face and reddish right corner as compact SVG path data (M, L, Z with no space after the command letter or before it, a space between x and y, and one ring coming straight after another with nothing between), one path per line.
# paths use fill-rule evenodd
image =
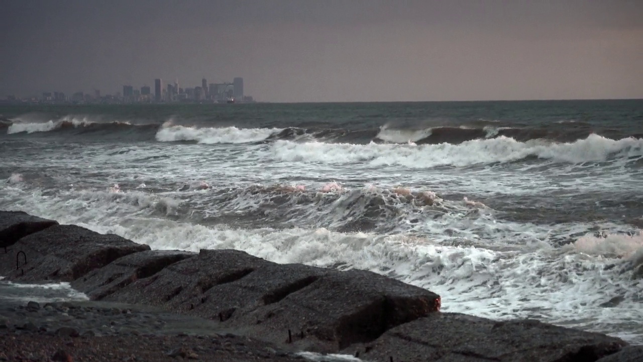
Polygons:
M279 267L287 270L285 265ZM257 274L268 280L271 275L282 278L276 272ZM302 276L302 271L290 274ZM246 335L334 352L372 341L386 330L428 316L440 307L440 296L433 292L367 271L325 271L302 280L309 283L291 284L278 298L264 298L263 305L235 314L229 324L242 328L254 323Z

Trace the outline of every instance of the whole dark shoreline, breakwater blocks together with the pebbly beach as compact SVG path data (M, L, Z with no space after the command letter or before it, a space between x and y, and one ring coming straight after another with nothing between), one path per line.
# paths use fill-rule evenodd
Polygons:
M18 211L0 211L0 276L68 282L90 298L0 299L0 361L643 359L603 334L440 312L437 294L372 272L152 251Z

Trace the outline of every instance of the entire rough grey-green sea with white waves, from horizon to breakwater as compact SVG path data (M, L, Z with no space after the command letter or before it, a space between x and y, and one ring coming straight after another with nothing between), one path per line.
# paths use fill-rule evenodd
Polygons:
M643 343L643 100L1 106L0 209Z

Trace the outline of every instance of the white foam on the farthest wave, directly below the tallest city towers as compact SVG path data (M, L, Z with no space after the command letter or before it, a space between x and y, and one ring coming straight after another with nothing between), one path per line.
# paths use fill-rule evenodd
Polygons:
M197 141L201 144L239 144L265 140L273 133L281 131L277 128L195 128L166 124L156 133L160 142Z

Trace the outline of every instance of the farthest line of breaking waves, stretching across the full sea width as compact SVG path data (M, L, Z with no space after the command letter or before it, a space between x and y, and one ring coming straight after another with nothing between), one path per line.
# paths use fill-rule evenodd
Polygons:
M376 126L374 124L333 124L323 121L318 124L304 124L293 120L284 122L282 127L272 124L241 122L239 124L220 124L218 120L183 119L173 117L156 119L113 119L100 115L67 115L57 119L47 119L38 115L24 115L15 119L0 118L0 129L6 134L32 134L51 131L71 131L75 135L98 137L132 133L137 140L157 140L158 142L195 142L199 144L242 144L253 142L275 142L292 140L298 142L327 142L347 144L462 144L473 140L512 138L518 142L547 140L549 142L574 142L592 135L618 140L620 138L641 138L643 134L623 133L617 129L595 128L584 122L554 122L527 126L526 124L507 124L503 122L469 122L459 126L422 127L406 125L403 127ZM305 126L304 126L305 125ZM58 134L58 133L51 133Z

